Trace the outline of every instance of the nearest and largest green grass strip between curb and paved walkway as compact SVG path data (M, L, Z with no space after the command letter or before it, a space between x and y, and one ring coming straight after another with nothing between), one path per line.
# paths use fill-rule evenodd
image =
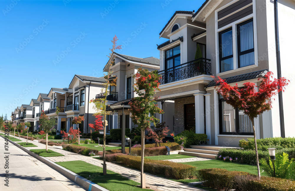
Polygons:
M118 173L115 173L110 170L106 170L106 175L103 175L103 169L101 167L91 165L84 161L68 161L68 162L56 162L56 164L65 167L76 174L91 180L99 186L106 188L107 190L112 191L140 191L149 189L141 189L135 187L136 185L140 185L140 183L135 182L133 180L129 180L126 177L121 176ZM150 190L149 190L150 191Z

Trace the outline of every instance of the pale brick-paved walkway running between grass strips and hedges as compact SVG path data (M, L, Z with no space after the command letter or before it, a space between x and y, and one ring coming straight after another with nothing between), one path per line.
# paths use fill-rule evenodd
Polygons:
M16 137L17 138L17 137ZM23 138L20 138L21 140L26 140ZM34 145L37 145L38 147L24 147L28 150L30 149L45 149L45 145L39 142L31 141L28 140L28 142L33 143ZM50 150L53 150L55 152L59 152L65 156L60 156L60 157L46 157L47 159L53 161L53 162L64 162L64 161L74 161L74 160L82 160L85 162L88 162L92 165L96 165L99 167L102 167L103 161L102 160L97 160L91 157L87 157L84 155L76 154L73 152L65 151L62 149L58 149L52 146L48 146ZM140 182L140 171L139 170L133 170L127 167L122 167L120 165L116 165L110 162L107 162L107 169L111 170L113 172L117 172L121 174L124 177L129 178L130 180L134 180L136 182ZM150 189L153 190L169 190L169 191L201 191L202 189L196 188L190 185L186 185L180 182L175 182L172 180L168 180L166 178L158 177L155 175L151 175L146 173L146 186L150 187ZM139 183L140 184L140 183Z

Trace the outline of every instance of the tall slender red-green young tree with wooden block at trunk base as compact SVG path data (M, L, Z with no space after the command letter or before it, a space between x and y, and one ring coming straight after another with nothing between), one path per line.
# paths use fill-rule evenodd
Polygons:
M139 68L133 77L135 78L134 92L138 97L132 98L128 110L132 113L134 124L137 124L141 129L141 187L145 188L145 174L143 173L145 130L150 128L150 123L159 122L159 119L154 117L155 113L163 113L163 110L155 104L158 97L154 97L155 91L160 91L159 80L161 77L158 71L150 72L142 68Z

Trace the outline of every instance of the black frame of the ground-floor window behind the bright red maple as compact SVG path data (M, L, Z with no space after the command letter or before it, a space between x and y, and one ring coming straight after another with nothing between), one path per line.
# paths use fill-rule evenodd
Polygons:
M239 108L235 107L234 108L234 112L235 112L235 116L236 116L236 120L235 120L235 132L223 132L223 112L222 112L222 102L225 102L224 98L219 98L219 94L218 94L218 109L219 109L219 134L232 134L232 135L254 135L254 133L245 133L245 132L240 132L240 128L239 128Z

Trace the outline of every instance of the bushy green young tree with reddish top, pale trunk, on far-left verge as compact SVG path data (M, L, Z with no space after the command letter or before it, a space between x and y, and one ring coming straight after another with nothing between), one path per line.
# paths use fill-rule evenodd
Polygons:
M54 117L48 118L48 116L44 113L44 111L41 112L41 115L39 117L40 121L40 130L44 131L46 133L46 151L48 150L48 133L55 129L56 121Z

